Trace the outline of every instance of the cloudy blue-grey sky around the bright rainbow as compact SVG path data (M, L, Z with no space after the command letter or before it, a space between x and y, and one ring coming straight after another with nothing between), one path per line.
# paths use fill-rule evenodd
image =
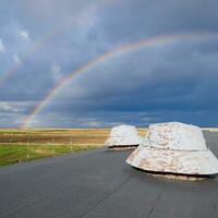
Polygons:
M218 37L181 37L99 62L28 119L104 53L158 36L218 34L217 8L216 0L1 0L0 128L218 126Z

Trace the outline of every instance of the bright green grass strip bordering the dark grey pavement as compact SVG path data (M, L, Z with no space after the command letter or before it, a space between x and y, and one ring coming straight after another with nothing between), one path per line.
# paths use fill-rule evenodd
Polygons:
M27 148L26 144L0 145L0 166L82 152L96 147L95 145L73 145L71 147L64 144L34 144Z

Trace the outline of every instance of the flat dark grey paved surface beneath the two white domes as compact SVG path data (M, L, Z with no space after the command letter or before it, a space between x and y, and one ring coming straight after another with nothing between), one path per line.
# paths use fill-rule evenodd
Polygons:
M218 156L218 134L206 138ZM126 165L129 155L97 149L0 168L0 217L218 217L218 179L153 178Z

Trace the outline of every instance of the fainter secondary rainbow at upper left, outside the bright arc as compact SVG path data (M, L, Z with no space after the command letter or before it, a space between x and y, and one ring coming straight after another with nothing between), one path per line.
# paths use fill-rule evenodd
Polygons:
M99 8L104 8L106 5L109 5L111 3L114 2L114 0L96 0L99 1L98 2L98 7ZM84 10L82 10L82 12L84 11L88 11L90 10L93 7L93 4L90 4L89 7L85 8ZM71 24L76 21L77 16L80 16L80 13L77 13L76 15L74 15L73 17L69 19L69 21L61 25L60 27L52 29L49 34L47 34L46 36L44 36L41 39L37 40L31 48L29 50L26 51L26 53L24 53L24 56L21 57L21 62L20 63L14 63L8 71L3 72L3 74L0 77L0 86L2 84L5 83L5 81L9 80L9 77L11 77L11 75L13 75L19 69L20 66L26 61L28 60L28 58L35 53L37 50L39 50L40 48L44 48L55 36L62 34L64 29L68 29Z

